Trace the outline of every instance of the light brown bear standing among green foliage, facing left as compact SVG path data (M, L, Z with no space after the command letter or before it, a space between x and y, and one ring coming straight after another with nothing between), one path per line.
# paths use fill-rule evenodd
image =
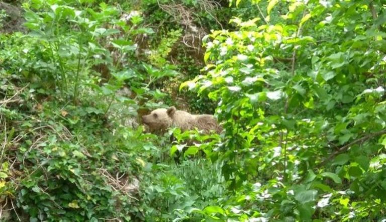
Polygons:
M151 132L162 133L168 128L177 127L181 131L202 130L204 134L211 131L221 133L222 128L213 115L193 115L177 110L174 106L153 110L149 115L142 116L142 122L149 127Z

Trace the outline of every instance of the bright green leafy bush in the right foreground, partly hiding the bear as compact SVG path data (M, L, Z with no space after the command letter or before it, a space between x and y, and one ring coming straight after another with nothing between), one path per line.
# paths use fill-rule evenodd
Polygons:
M226 140L218 157L237 191L224 207L198 212L243 221L382 219L384 27L377 12L384 7L260 2L262 18L234 18L238 30L208 36L207 75L182 85L219 103ZM271 22L276 7L281 15Z

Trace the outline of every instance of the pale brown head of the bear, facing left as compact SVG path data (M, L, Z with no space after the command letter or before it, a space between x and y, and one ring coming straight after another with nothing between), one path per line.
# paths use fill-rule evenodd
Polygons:
M149 127L150 132L163 132L173 124L175 112L174 106L169 109L155 109L149 115L142 116L142 122Z

